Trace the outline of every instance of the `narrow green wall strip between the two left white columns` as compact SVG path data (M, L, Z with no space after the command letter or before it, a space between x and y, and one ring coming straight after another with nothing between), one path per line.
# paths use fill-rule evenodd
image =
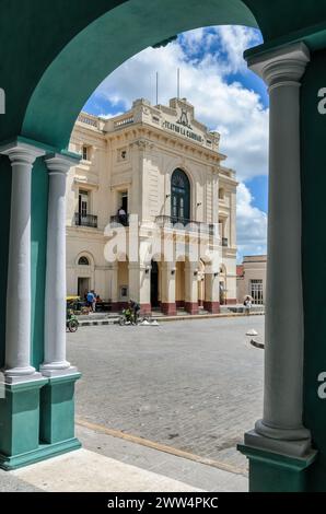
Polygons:
M46 269L48 173L37 159L32 174L32 355L38 369L44 357L44 301Z

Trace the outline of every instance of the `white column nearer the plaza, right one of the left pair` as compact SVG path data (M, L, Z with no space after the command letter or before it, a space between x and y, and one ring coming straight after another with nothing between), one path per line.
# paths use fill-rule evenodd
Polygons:
M74 373L66 360L66 182L75 160L60 154L45 160L49 174L45 285L45 376Z

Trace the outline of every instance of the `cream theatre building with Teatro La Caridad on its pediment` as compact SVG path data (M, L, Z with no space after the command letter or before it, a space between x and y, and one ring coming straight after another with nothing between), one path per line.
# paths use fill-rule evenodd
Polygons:
M137 100L107 120L79 116L70 150L82 160L67 190L68 294L93 289L113 309L133 299L143 312L166 314L236 303L237 183L219 139L185 98Z

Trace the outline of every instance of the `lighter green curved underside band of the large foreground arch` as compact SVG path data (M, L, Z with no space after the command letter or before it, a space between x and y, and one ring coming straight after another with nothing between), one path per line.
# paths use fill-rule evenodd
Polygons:
M257 26L241 0L129 0L108 11L48 67L27 105L22 135L66 148L89 96L125 60L175 34L214 24ZM49 112L56 113L50 120Z

